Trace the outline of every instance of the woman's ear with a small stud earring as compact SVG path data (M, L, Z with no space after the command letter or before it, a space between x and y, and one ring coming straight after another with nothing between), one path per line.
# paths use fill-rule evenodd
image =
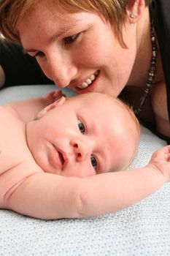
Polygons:
M144 0L129 0L127 9L129 22L136 23L142 17L145 7Z

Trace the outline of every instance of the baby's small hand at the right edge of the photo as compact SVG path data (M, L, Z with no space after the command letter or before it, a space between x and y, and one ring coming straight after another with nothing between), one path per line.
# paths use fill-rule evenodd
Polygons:
M170 145L155 151L148 165L161 173L166 182L170 181Z

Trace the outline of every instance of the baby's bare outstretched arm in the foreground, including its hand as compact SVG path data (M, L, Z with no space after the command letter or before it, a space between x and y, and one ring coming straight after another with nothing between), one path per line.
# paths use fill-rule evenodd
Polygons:
M4 208L42 219L109 214L142 200L170 180L170 146L146 167L88 178L37 173L6 194Z

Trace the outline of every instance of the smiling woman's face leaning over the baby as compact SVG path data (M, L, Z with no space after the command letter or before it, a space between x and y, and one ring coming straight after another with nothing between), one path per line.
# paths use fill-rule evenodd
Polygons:
M98 91L117 97L128 83L136 56L135 26L123 27L121 47L113 29L95 12L53 13L39 3L19 26L26 53L35 56L58 87L79 94Z

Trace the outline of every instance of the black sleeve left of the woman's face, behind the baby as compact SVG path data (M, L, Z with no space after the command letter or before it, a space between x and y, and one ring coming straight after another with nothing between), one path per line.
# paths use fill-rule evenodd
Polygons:
M5 73L4 86L53 84L44 75L36 59L23 53L19 45L6 40L0 40L0 65Z

